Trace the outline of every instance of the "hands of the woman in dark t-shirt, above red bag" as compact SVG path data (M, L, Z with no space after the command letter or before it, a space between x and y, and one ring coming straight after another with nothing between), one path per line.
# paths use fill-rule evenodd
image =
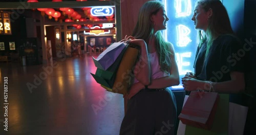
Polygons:
M196 91L197 89L202 89L204 83L193 77L185 76L182 78L182 84L185 91Z

